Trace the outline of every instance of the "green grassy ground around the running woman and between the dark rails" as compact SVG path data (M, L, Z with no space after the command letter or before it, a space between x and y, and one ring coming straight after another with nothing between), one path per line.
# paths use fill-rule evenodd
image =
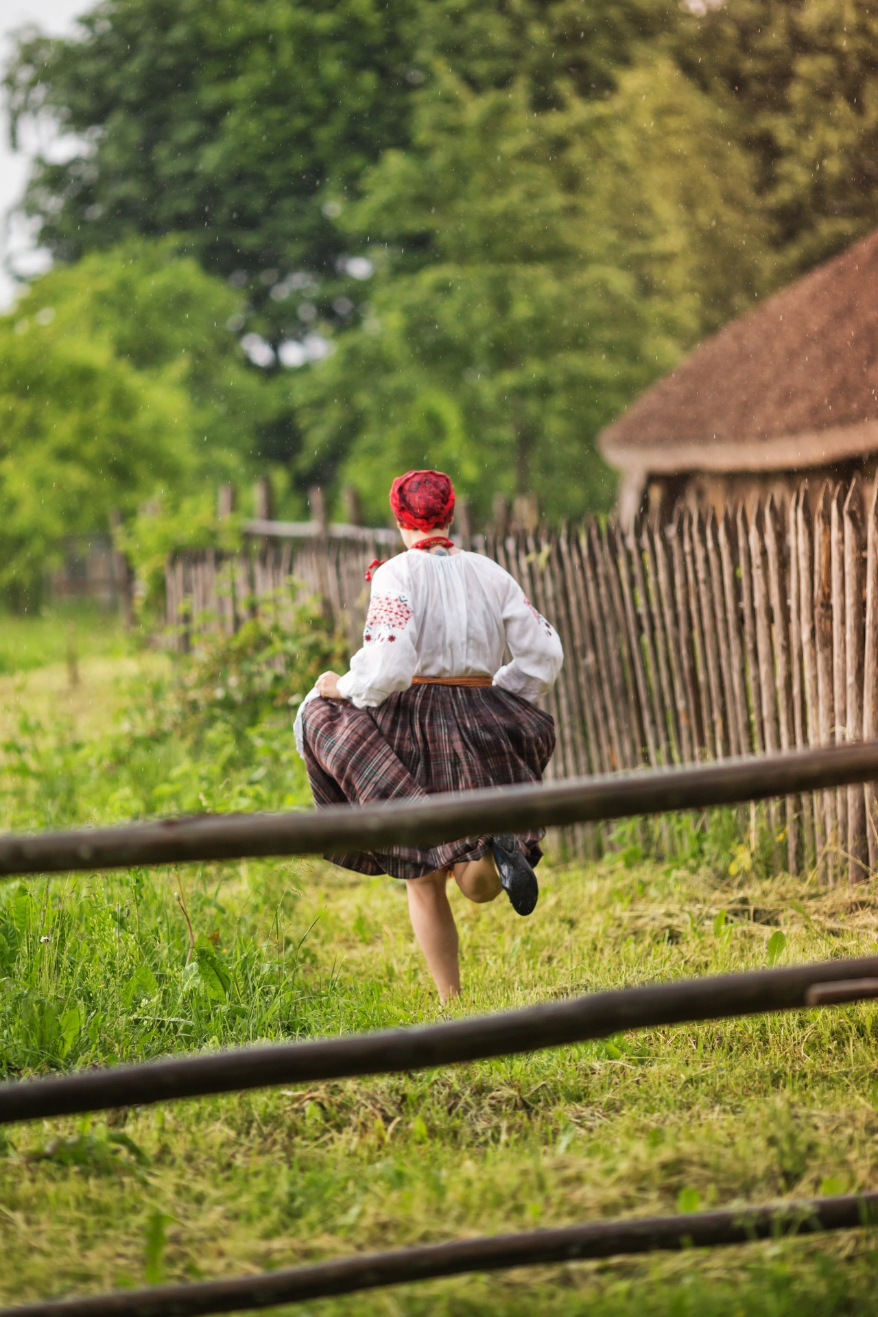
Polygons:
M221 720L199 741L159 734L138 711L157 665L96 655L61 707L58 666L8 678L3 826L307 803L290 716L244 738ZM731 877L721 851L656 864L625 844L598 864L546 864L528 921L505 902L458 900L465 992L450 1010L415 948L404 892L387 878L259 861L8 884L0 1064L16 1076L338 1034L770 955L783 964L874 950L878 886L827 892L748 869L740 855ZM12 1127L0 1135L0 1296L875 1187L877 1027L865 1004ZM874 1239L854 1233L466 1276L307 1312L878 1313L877 1263Z

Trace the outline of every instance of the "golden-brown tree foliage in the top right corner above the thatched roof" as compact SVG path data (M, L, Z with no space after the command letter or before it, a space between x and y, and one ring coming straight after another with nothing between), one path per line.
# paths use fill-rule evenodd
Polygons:
M757 167L775 282L874 228L878 13L866 0L732 0L674 42L681 67L728 108Z

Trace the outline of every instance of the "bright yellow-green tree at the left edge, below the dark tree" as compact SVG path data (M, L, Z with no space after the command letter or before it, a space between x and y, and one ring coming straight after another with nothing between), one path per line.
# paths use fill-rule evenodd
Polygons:
M18 607L65 537L105 533L111 508L133 512L194 465L179 383L46 320L0 317L0 591Z

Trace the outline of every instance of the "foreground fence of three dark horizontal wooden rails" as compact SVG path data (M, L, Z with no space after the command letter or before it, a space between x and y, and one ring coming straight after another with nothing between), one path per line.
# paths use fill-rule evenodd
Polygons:
M304 828L315 842L321 820L334 815L336 827L329 839L337 840L341 818L348 818L357 836L376 838L390 834L429 839L453 832L463 824L467 809L479 815L508 807L511 794L536 797L546 819L562 803L573 807L573 818L616 817L617 813L652 807L686 807L710 801L740 801L769 792L821 789L836 792L840 786L861 781L878 772L878 743L787 752L761 761L737 760L712 766L665 769L659 773L612 776L603 784L592 781L550 786L513 788L504 792L469 793L458 798L432 799L424 810L403 802L380 810L355 810L350 806L321 814L303 813L287 817L292 831ZM636 784L638 798L632 799ZM706 785L707 784L707 785ZM617 793L621 792L621 797ZM578 802L574 794L582 794ZM588 794L599 799L587 801ZM566 799L561 799L566 797ZM550 802L554 799L554 805ZM530 802L533 807L534 801ZM452 813L453 815L452 817ZM436 823L430 815L444 817ZM408 823L405 823L408 817ZM487 818L484 819L487 822ZM470 822L473 819L470 818ZM255 827L253 826L255 824ZM283 817L241 815L224 818L166 819L134 826L71 834L42 834L36 838L7 838L0 851L11 865L21 864L28 872L33 865L51 860L49 868L92 868L96 863L130 864L132 844L146 844L146 863L195 859L217 853L216 828L228 828L241 844L240 830L247 830L245 851L237 853L274 853L279 840L278 824ZM491 824L494 826L494 824ZM275 828L275 838L266 831ZM204 828L211 830L204 847ZM201 840L196 834L201 834ZM212 838L212 840L211 840ZM220 852L229 836L220 840ZM267 846L266 846L267 840ZM325 839L324 839L325 840ZM303 838L296 849L301 849ZM115 847L115 849L113 849ZM167 1058L132 1067L103 1071L80 1071L74 1075L13 1081L0 1085L0 1122L34 1119L62 1113L105 1110L184 1097L225 1093L262 1087L271 1083L313 1083L374 1073L408 1072L415 1068L470 1062L478 1058L512 1055L546 1047L563 1046L588 1038L603 1038L621 1029L652 1027L691 1021L762 1014L773 1010L796 1010L811 1006L836 1006L878 997L878 957L833 960L827 964L798 965L785 969L756 971L713 979L653 984L616 992L594 993L566 1002L548 1002L524 1010L507 1011L475 1019L459 1019L426 1027L394 1030L353 1038L323 1039L307 1043L275 1044L238 1052ZM792 1204L762 1204L719 1212L677 1217L645 1217L628 1221L588 1222L554 1230L536 1230L516 1235L482 1237L330 1259L308 1267L274 1271L257 1276L196 1281L186 1285L151 1287L140 1291L113 1291L71 1299L38 1300L21 1308L7 1308L0 1317L200 1317L200 1314L257 1309L280 1303L297 1303L329 1295L353 1293L378 1285L429 1277L459 1275L467 1271L561 1263L583 1258L608 1258L625 1252L659 1249L715 1247L748 1243L757 1238L812 1230L842 1230L869 1226L875 1220L878 1195L866 1192L845 1197L811 1198Z

